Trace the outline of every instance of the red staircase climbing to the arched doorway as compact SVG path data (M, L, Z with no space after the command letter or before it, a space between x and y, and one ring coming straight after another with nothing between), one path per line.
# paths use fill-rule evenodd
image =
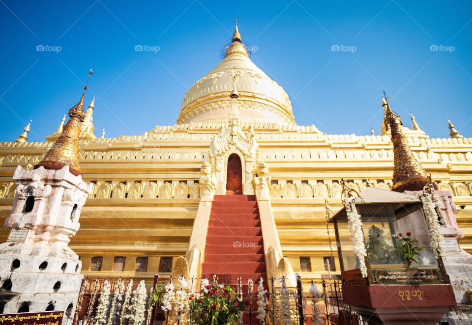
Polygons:
M266 279L266 260L262 240L261 221L255 195L215 195L208 224L203 276L219 281L230 278L236 289L237 277L254 280L257 293L259 278Z

